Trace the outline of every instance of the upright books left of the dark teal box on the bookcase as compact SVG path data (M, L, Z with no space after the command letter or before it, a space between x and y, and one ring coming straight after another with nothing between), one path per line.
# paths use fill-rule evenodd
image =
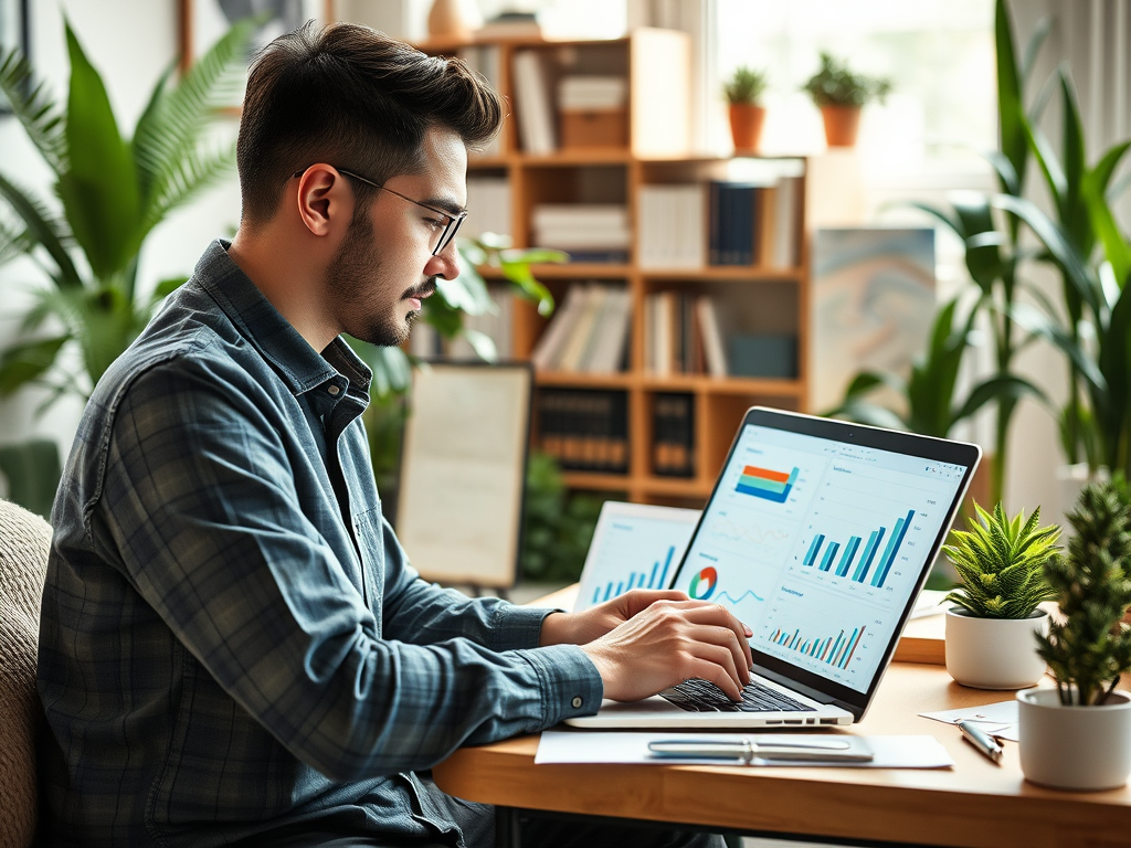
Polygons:
M644 347L645 370L661 377L729 373L709 295L667 291L645 297Z

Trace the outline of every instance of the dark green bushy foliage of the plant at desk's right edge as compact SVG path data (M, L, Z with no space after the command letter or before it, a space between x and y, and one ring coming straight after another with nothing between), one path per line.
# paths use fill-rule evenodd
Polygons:
M1068 516L1076 535L1068 555L1045 568L1063 614L1038 652L1056 678L1061 703L1103 704L1131 670L1131 507L1116 485L1098 483L1080 493Z

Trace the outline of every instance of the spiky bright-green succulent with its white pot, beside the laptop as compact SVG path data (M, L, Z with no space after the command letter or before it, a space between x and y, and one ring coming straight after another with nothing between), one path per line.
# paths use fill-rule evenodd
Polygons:
M943 547L960 583L947 596L947 670L965 686L1022 689L1045 673L1034 633L1048 632L1039 604L1053 597L1045 564L1055 559L1056 526L1039 527L1041 510L1012 519L1001 503L993 514L974 504L969 530Z

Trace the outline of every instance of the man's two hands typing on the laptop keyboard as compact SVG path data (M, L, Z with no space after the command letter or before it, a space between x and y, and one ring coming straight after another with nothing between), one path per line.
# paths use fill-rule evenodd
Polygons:
M605 698L615 701L637 701L691 677L737 701L750 682L751 635L718 604L675 590L633 590L584 613L547 616L541 643L580 644Z

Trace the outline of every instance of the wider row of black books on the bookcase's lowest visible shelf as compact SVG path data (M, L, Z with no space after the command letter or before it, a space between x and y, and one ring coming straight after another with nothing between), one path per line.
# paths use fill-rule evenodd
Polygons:
M625 474L628 396L623 391L542 389L535 399L538 447L562 468Z

